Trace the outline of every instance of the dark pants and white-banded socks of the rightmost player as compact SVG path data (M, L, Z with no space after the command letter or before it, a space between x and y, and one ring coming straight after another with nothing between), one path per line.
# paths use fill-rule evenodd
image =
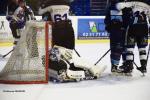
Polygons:
M148 45L148 25L135 24L129 27L126 37L126 61L133 62L134 47L137 44L141 66L147 63L146 46Z

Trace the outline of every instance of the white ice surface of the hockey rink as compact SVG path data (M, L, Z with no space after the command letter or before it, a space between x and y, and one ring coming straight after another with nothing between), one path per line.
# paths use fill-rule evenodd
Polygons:
M93 64L109 49L109 43L76 44L81 57ZM11 47L0 47L5 54ZM76 56L76 55L75 55ZM98 63L107 65L100 79L76 83L52 83L42 85L0 84L0 100L150 100L150 60L145 77L134 68L132 77L110 75L110 53ZM6 59L0 60L0 68ZM137 48L135 62L139 65ZM1 69L0 69L1 70ZM16 92L6 92L6 91ZM17 92L22 91L22 92Z

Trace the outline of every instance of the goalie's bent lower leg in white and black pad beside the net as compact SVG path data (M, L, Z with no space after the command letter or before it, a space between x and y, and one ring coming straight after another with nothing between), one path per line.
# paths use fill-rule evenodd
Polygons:
M84 70L72 63L72 50L56 45L50 51L49 73L50 77L62 81L85 78Z

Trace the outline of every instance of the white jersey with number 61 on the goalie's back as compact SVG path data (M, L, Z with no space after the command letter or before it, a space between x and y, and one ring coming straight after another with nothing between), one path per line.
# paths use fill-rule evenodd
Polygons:
M67 5L52 5L43 9L39 9L39 14L42 15L49 12L51 15L51 20L53 22L58 22L61 20L67 20L69 15L70 7Z

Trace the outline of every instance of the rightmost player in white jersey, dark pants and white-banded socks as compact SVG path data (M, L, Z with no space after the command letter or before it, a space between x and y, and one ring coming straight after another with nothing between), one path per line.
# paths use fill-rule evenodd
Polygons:
M134 1L134 2L132 2ZM124 66L124 73L131 73L133 70L133 62L134 62L134 47L137 44L139 50L139 57L141 62L141 67L137 67L142 73L146 73L146 65L147 65L147 58L146 58L146 46L148 45L148 24L149 24L149 8L150 6L146 3L142 2L135 2L132 0L130 2L125 3L118 3L117 9L118 10L126 10L125 13L132 12L130 16L126 16L127 19L125 21L129 21L127 24L127 31L126 31L126 62ZM137 1L137 0L136 0ZM149 18L148 18L149 17Z

